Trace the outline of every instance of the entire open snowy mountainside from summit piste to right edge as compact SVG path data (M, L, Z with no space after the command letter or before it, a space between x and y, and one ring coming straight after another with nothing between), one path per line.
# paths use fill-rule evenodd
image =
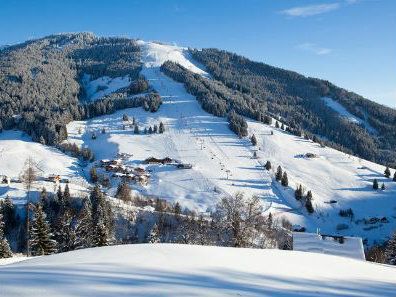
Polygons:
M164 101L159 111L127 109L89 121L72 122L67 127L69 141L89 146L97 159L112 159L119 153L127 153L131 155L127 162L135 166L143 166L142 161L151 156L193 164L191 170L150 165L150 184L136 186L135 190L179 201L202 212L213 208L222 195L240 191L259 196L267 213L278 219L287 217L312 232L320 228L327 234L361 236L369 244L386 239L396 228L396 183L383 177L383 166L248 120L249 135L254 133L258 139L258 146L252 147L248 139L239 139L229 130L226 119L203 111L182 84L160 71L163 62L172 60L209 77L184 48L144 41L139 44L144 64L141 74ZM141 131L162 121L166 132L135 135L133 129L123 130L123 114L134 117ZM106 134L100 134L103 128ZM92 132L97 133L98 139L91 139ZM254 151L258 159L253 158ZM317 157L307 158L306 153ZM288 188L274 181L273 170L264 170L267 160L271 161L273 170L281 165L288 172ZM384 182L387 189L373 191L374 178L380 184ZM313 215L308 215L294 198L294 189L299 184L313 192L316 209ZM336 203L330 204L332 200ZM338 215L340 209L347 208L353 209L353 221ZM387 222L364 221L383 217ZM341 227L343 230L339 230Z

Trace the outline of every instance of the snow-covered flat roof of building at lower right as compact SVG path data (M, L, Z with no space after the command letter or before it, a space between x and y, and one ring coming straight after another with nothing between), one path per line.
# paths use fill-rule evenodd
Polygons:
M345 236L342 240L339 242L338 238L317 233L293 232L293 250L366 259L360 237Z

